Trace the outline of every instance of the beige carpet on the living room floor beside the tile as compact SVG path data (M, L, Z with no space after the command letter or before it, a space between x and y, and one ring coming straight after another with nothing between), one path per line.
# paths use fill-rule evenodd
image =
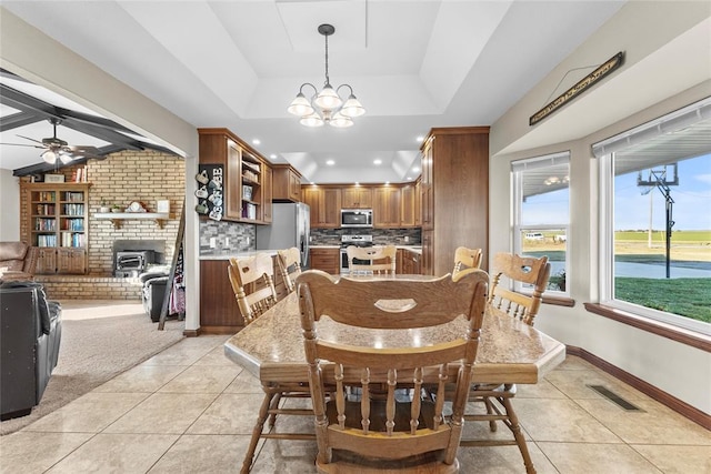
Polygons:
M140 302L61 303L59 362L44 395L31 414L0 422L0 435L29 425L183 337L183 321L169 319L158 331Z

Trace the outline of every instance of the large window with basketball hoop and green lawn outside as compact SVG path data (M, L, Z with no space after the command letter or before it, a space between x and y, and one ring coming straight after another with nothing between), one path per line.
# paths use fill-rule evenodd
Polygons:
M593 151L603 302L711 334L711 100Z

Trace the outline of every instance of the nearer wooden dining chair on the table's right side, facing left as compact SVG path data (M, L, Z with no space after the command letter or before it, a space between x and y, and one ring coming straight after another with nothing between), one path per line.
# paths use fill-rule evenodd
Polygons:
M497 253L493 258L491 289L487 304L532 326L550 272L551 264L547 256L534 259L505 252ZM530 294L517 291L517 284L523 285L524 291L530 289ZM535 473L519 418L513 410L514 396L514 384L473 384L469 392L469 401L482 402L487 412L485 414L464 413L464 420L489 422L492 432L497 431L497 422L500 421L511 431L513 440L462 438L460 445L518 445L525 472Z

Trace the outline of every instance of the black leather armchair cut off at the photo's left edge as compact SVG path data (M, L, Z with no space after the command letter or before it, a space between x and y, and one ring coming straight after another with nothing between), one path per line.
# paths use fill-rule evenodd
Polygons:
M30 414L59 360L61 306L33 282L0 286L0 420Z

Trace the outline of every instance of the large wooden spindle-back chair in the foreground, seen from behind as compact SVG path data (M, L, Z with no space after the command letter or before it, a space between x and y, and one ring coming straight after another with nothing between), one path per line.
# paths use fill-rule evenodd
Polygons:
M428 281L337 281L319 270L299 275L318 472L459 472L457 450L487 286L488 275L481 270L470 270L457 282L449 275ZM364 345L320 339L324 315L362 333ZM459 316L465 324L441 341L413 342L413 332L424 334L430 327L430 334L441 335L439 326ZM392 330L408 330L402 331L401 343L372 343ZM443 391L450 381L455 396L451 415L445 415ZM327 384L336 384L330 396ZM370 389L382 384L384 397L371 396ZM422 396L425 384L434 384L442 394L437 402ZM360 400L349 397L353 386Z

